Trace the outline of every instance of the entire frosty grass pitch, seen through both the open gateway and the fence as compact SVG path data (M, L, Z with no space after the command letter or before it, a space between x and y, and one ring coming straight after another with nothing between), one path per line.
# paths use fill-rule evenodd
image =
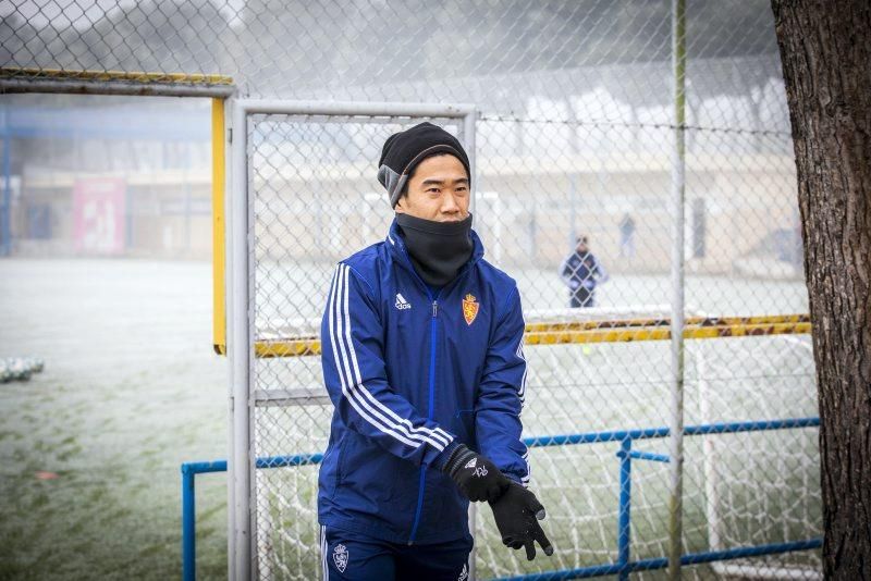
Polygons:
M210 265L200 262L0 261L0 357L46 360L45 371L29 382L0 385L0 579L177 578L179 465L226 455L226 366L211 351L210 277ZM562 306L562 289L551 274L527 272L518 279L527 309ZM697 308L717 314L807 309L797 283L708 277L691 280L687 294ZM297 310L310 312L316 295L314 289L298 293ZM615 276L603 287L601 302L663 301L657 297L667 299L663 279ZM690 360L703 355L706 367L699 370L692 362L688 369L687 423L814 415L807 345L806 339L763 337L691 346ZM667 424L665 344L537 347L527 355L526 435ZM297 360L293 372L279 362L265 369L280 373L279 379L296 373L309 383L317 381L315 363ZM262 453L319 450L326 417L327 410L314 408L265 408L259 430L262 442L269 442ZM808 469L815 462L815 432L778 434L717 441L714 468L723 502L717 514L729 546L815 533L818 478ZM689 551L703 549L710 541L701 446L701 438L687 441ZM639 443L638 448L662 453L665 441ZM758 456L748 460L748 450ZM480 572L612 560L615 452L614 444L533 450L533 486L548 506L547 526L557 553L529 568L507 554L492 526L484 524ZM658 556L664 551L667 465L636 462L633 470L634 557ZM274 578L307 578L306 570L316 567L317 556L307 548L317 546L315 474L316 469L304 468L260 477L261 511L271 517L260 524L271 522ZM224 483L224 474L197 478L201 579L225 577ZM707 567L689 571L713 574Z

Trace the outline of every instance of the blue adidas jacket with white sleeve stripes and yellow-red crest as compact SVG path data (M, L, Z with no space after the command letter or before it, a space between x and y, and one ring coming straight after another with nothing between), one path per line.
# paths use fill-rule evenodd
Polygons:
M395 543L466 536L468 500L441 472L461 442L528 482L520 297L471 237L469 262L438 293L395 221L387 240L339 263L321 325L335 407L321 524Z

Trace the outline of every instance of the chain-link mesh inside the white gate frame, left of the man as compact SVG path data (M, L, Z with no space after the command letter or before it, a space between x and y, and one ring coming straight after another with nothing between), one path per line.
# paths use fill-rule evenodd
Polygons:
M319 336L336 262L349 248L387 235L392 212L378 182L372 184L372 159L391 134L421 119L257 114L249 120L254 333L262 350L281 355L296 350L289 345ZM429 121L463 137L456 121ZM256 359L252 386L261 399L253 428L258 457L326 449L332 404L319 357ZM302 579L319 570L317 473L317 466L257 472L261 578Z

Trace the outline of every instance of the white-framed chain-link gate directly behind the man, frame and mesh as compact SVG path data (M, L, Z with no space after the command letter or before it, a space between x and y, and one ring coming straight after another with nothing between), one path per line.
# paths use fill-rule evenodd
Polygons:
M376 178L387 137L437 123L464 144L474 171L474 109L240 100L232 110L231 570L311 579L320 571L320 455L311 454L326 448L332 413L320 319L335 263L387 235L393 211Z

